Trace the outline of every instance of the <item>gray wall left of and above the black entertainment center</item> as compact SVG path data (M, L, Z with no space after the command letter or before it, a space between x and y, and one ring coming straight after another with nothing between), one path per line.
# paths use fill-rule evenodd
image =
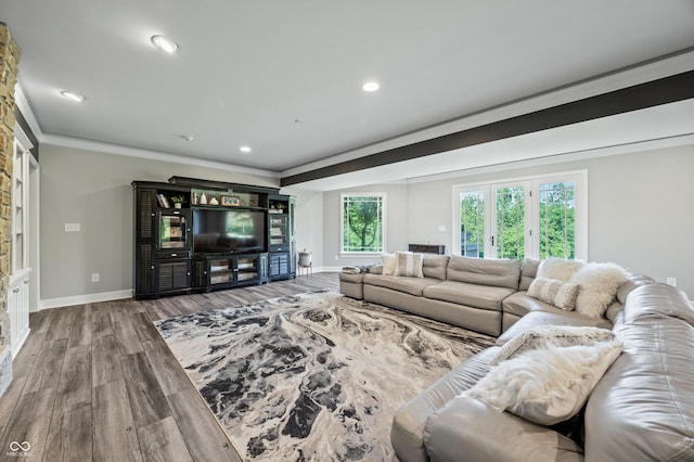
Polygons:
M41 145L41 299L132 288L132 180L171 176L278 187L273 178ZM65 232L78 222L80 232ZM99 272L101 282L92 283Z

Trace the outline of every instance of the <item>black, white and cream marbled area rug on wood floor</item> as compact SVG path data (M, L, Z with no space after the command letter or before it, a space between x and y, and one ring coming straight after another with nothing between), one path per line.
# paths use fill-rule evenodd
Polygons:
M386 461L397 409L493 338L334 292L156 322L249 461Z

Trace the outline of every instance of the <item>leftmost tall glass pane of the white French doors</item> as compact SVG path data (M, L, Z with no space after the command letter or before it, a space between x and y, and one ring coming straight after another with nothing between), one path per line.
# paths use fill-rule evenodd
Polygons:
M460 193L460 248L466 257L485 257L485 193Z

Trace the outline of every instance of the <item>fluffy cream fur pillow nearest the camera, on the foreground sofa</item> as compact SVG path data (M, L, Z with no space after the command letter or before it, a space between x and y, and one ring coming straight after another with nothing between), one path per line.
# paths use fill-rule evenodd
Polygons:
M540 425L576 415L624 350L616 342L535 349L491 369L461 396L477 398Z

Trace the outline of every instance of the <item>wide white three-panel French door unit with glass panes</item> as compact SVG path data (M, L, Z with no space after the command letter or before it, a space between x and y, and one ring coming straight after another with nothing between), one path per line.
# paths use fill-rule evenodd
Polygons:
M453 188L453 252L470 257L586 259L587 172Z

